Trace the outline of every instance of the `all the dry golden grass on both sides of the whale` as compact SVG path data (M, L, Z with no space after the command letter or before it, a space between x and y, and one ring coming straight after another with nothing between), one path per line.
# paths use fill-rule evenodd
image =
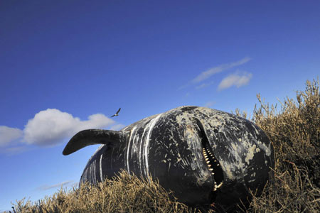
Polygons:
M270 137L275 168L270 182L250 207L239 212L320 212L320 94L319 79L306 81L297 97L277 106L265 104L257 95L251 119ZM247 114L235 111L239 116ZM39 202L17 201L11 212L200 212L176 202L158 182L145 182L122 171L98 187L85 185L60 190ZM214 212L214 209L209 212Z

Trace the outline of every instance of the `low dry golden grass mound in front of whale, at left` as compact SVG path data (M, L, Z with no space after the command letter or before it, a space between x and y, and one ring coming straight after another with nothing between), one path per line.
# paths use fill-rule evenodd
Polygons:
M200 212L176 202L175 198L159 185L159 182L139 180L135 175L122 171L112 180L100 182L97 187L90 184L73 188L69 192L60 190L52 197L38 203L20 200L14 212Z

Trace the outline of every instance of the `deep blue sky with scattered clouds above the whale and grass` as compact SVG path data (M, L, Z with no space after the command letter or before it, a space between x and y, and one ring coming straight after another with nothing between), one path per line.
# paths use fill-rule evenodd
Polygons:
M98 146L182 105L252 113L320 73L319 1L0 1L0 212L78 183ZM119 107L119 116L110 118Z

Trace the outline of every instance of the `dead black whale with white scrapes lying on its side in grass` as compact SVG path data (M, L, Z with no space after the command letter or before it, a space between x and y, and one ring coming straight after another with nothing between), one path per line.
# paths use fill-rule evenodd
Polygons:
M186 204L231 209L259 194L274 167L265 133L246 119L205 107L178 107L149 116L120 131L89 129L75 134L63 155L102 144L82 173L97 184L124 169L158 179Z

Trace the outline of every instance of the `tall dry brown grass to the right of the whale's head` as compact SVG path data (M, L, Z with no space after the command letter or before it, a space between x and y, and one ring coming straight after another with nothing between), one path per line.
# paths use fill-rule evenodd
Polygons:
M270 137L276 162L262 196L254 196L243 212L320 212L319 78L306 81L297 101L280 102L279 112L260 94L257 98L261 106L255 107L252 121Z

